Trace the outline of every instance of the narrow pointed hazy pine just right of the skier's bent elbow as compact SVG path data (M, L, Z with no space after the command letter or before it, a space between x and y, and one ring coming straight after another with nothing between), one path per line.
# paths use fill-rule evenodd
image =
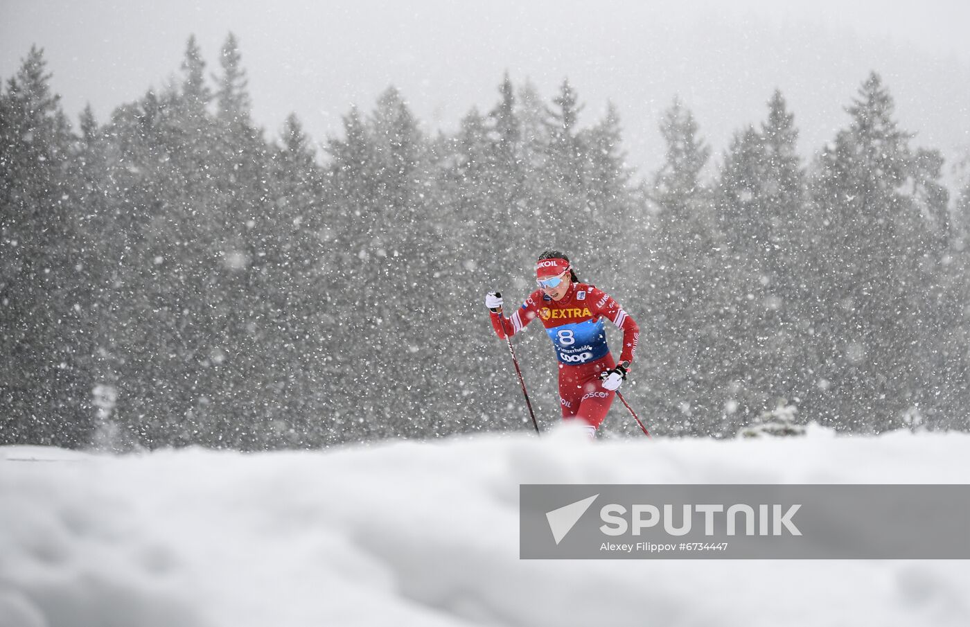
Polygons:
M640 354L649 371L663 372L651 387L651 404L661 408L670 433L706 433L712 413L720 414L726 391L723 364L712 349L719 343L727 288L721 236L710 194L700 173L710 149L697 134L694 115L675 99L663 115L666 159L650 192L654 239L643 275L649 285L641 327L652 330Z

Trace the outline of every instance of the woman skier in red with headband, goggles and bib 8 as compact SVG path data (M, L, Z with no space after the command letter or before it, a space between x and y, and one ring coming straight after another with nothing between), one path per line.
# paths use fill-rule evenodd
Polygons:
M595 437L616 390L627 379L640 328L608 294L579 282L562 252L547 250L539 255L535 278L539 289L509 317L501 312L498 292L485 296L492 326L504 338L524 329L534 317L542 320L559 359L563 419L578 421ZM606 346L603 318L623 329L619 364Z

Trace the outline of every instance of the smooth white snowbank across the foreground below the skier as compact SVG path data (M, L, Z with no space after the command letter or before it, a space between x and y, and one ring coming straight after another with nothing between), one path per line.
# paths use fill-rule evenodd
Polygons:
M0 447L0 626L970 625L961 561L520 561L519 483L970 482L970 436Z

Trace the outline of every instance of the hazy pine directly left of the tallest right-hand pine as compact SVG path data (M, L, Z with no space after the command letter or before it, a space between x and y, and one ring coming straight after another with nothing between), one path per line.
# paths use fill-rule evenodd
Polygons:
M803 303L811 279L799 261L808 224L796 139L793 115L776 91L760 131L749 126L735 135L717 183L731 283L722 326L732 423L767 411L777 398L797 403L805 395Z

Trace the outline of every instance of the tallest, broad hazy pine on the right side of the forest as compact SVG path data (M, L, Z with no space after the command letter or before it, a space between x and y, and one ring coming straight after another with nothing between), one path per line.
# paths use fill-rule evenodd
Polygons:
M932 176L917 169L912 135L898 128L877 74L847 111L849 127L820 157L813 189L821 219L816 288L826 310L815 324L820 379L830 420L879 431L898 427L933 395L920 347L937 327L941 226L907 184L916 176L925 187Z

